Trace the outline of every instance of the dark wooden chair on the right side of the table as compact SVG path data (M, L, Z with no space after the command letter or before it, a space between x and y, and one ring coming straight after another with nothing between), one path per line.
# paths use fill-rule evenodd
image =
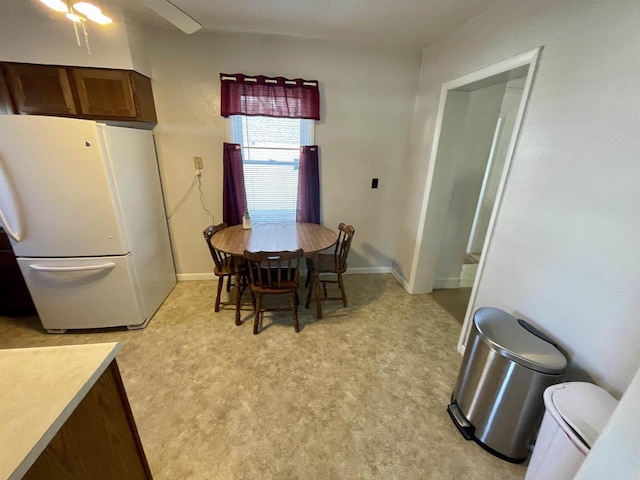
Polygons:
M338 225L338 241L333 254L321 253L313 258L307 258L307 286L309 290L307 292L307 301L305 302L305 308L309 308L311 304L311 294L315 291L316 301L318 303L318 318L322 318L322 306L320 302L327 300L342 300L342 305L347 306L347 294L344 290L344 281L342 274L347 270L347 256L351 249L351 240L356 233L355 229L351 225L345 225L341 223ZM328 280L326 278L320 278L321 274L333 273L337 276L336 280ZM329 297L327 294L327 283L337 283L340 287L340 297ZM321 297L320 284L322 284Z

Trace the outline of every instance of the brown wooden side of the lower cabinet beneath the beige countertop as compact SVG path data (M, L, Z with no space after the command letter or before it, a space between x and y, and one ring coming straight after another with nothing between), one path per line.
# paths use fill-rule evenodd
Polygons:
M115 360L23 478L152 478Z

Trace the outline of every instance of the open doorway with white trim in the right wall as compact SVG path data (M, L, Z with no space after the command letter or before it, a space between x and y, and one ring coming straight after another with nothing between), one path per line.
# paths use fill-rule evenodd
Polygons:
M472 266L461 353L539 53L442 86L409 284L415 293L459 288Z

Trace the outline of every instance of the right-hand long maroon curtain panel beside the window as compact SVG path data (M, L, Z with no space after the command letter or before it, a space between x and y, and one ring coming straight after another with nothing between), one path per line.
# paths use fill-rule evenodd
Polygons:
M320 223L318 146L300 147L296 222Z

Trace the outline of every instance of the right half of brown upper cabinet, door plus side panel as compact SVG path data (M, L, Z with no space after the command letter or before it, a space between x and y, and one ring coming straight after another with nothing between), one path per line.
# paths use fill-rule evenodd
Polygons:
M156 122L151 80L128 70L70 68L79 110L91 118Z

